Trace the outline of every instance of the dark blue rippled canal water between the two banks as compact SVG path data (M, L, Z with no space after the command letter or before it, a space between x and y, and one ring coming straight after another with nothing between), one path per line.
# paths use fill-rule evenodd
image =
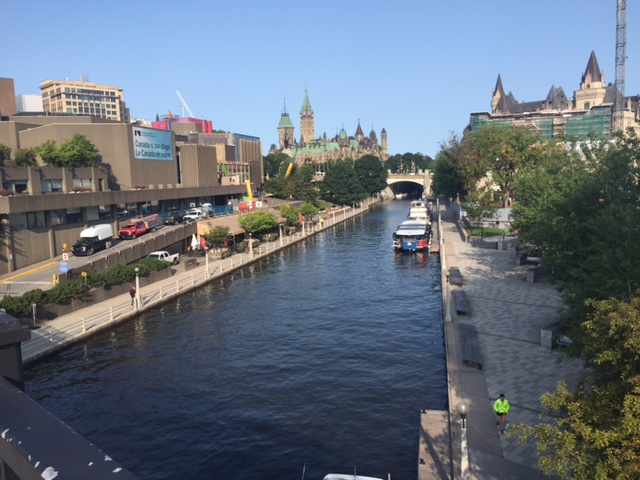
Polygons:
M408 209L48 357L27 393L141 479L415 480L420 409L446 408L447 386L439 259L392 249Z

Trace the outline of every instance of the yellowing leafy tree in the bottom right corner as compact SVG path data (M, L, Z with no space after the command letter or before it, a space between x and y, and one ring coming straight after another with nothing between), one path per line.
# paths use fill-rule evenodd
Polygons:
M640 297L591 302L584 322L586 367L571 393L559 384L542 396L553 423L517 425L522 441L537 440L539 465L562 478L640 478Z

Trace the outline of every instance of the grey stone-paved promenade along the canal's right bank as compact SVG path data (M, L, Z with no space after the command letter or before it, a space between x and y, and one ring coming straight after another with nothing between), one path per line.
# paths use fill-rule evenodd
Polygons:
M450 411L456 420L452 422L454 464L460 454L456 405L464 399L470 403L469 478L546 478L535 469L537 456L533 444L522 445L500 434L493 402L504 393L511 404L508 424L536 424L541 421L543 393L554 391L559 381L574 388L582 380L581 361L568 359L561 350L550 351L540 346L541 328L553 323L562 309L560 297L544 277L527 282L527 270L531 267L516 266L513 249L490 250L466 243L451 212L444 207L441 212L444 237L441 255L445 255L446 268L458 267L463 278L461 287L451 288L463 289L471 306L470 316L458 316L451 304L452 322L445 322L449 336ZM463 366L460 361L458 326L463 322L476 328L482 370Z

